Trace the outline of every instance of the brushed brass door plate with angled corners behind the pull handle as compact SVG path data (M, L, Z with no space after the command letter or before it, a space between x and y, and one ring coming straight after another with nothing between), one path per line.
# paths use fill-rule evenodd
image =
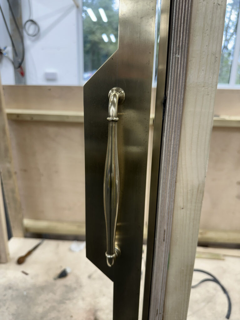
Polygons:
M156 0L120 0L118 50L84 85L86 255L114 281L114 320L138 319L155 21ZM113 87L126 97L117 115L121 255L109 268L102 185Z

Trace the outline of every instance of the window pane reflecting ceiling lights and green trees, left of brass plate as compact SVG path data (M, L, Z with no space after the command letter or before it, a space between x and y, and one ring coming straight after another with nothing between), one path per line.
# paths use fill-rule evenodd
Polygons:
M117 50L118 1L83 0L84 81Z

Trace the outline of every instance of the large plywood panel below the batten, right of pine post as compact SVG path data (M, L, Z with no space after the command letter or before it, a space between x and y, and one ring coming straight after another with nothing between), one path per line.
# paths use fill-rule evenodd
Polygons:
M213 128L200 228L240 233L240 128Z

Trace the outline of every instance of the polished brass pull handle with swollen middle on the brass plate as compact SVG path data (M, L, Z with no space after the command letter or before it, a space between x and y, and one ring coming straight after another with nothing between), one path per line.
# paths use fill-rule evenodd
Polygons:
M108 147L103 181L103 204L107 232L107 264L111 267L120 249L115 245L117 211L119 202L119 167L117 154L117 107L123 103L125 93L113 88L108 93Z

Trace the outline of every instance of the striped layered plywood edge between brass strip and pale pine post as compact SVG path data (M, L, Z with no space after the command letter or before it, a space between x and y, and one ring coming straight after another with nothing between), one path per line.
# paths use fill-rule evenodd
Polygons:
M174 187L186 73L191 0L172 1L166 109L163 123L159 191L149 319L162 319L171 235Z

